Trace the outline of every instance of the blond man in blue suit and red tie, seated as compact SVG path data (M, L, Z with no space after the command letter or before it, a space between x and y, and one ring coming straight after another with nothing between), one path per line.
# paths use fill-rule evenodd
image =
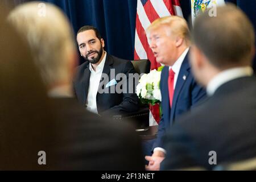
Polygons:
M156 19L146 30L150 48L156 61L164 65L160 90L162 94L162 118L158 136L153 144L147 170L158 170L164 159L163 136L176 119L205 97L205 90L197 85L188 60L190 46L187 22L179 16Z

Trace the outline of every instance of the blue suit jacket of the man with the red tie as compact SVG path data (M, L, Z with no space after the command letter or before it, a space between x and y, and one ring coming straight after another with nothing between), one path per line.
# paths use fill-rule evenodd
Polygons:
M155 147L163 147L163 136L167 129L174 124L174 121L188 111L191 106L195 105L206 96L205 89L197 84L192 75L189 65L188 53L185 56L180 67L180 72L177 77L177 82L172 100L172 108L170 107L168 93L168 76L169 67L164 67L161 74L160 90L162 94L162 118L159 122L158 136L153 144L152 150Z

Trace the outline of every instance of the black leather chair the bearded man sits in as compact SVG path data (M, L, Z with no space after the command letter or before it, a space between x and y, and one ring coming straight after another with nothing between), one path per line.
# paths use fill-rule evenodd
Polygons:
M142 60L131 60L133 63L135 71L140 75L141 73L150 72L150 61L148 59ZM148 105L139 105L139 110L133 113L126 113L122 115L114 115L113 119L115 120L131 120L137 125L138 128L147 127L149 122L149 107Z

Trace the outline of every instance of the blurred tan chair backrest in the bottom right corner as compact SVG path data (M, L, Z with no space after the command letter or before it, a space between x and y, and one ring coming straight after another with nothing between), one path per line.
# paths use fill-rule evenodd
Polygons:
M214 171L256 171L256 158L241 160L239 162L219 164Z

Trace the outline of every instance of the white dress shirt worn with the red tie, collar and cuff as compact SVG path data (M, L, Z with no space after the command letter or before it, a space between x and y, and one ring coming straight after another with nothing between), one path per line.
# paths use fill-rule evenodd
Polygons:
M185 59L185 56L188 53L188 50L189 50L189 48L185 49L185 51L175 61L174 65L172 65L172 67L169 67L169 70L172 69L172 71L174 71L174 73L175 73L175 75L174 75L174 89L175 89L175 85L176 85L176 82L177 82L177 77L179 76L181 64L183 63L183 60ZM162 152L164 152L164 154L166 154L166 150L164 150L162 147L154 148L154 152L155 151L162 151Z

